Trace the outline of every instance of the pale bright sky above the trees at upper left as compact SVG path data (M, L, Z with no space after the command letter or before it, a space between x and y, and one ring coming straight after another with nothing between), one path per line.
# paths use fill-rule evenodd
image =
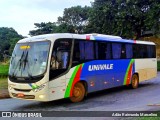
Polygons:
M0 0L0 27L12 27L29 36L34 23L56 22L65 8L91 6L94 0Z

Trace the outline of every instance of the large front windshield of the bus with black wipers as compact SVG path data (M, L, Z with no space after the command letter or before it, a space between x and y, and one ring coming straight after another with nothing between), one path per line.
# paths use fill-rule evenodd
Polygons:
M16 44L12 53L9 75L35 77L44 74L47 68L49 49L49 41Z

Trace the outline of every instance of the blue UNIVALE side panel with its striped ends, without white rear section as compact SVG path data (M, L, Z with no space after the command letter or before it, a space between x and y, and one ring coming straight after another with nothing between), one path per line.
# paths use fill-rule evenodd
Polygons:
M133 59L95 60L77 65L73 69L71 78L67 79L68 88L65 97L72 95L73 86L79 81L87 83L87 92L90 93L130 84L132 74L135 72Z

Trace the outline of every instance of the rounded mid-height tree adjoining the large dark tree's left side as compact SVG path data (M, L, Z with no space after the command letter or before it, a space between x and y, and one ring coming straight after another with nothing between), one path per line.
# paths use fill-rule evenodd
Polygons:
M58 17L59 25L66 25L68 32L83 33L88 23L90 7L75 6L65 8L62 17Z

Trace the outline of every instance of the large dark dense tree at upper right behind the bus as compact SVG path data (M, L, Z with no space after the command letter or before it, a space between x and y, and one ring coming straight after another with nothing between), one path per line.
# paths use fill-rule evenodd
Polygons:
M159 0L96 0L92 8L88 32L137 39L143 31L160 31Z

